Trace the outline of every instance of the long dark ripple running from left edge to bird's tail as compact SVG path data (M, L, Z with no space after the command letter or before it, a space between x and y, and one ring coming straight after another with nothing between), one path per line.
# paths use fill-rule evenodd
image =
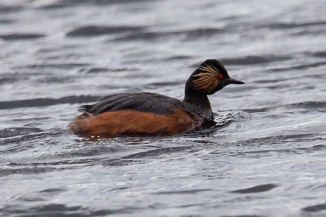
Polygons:
M29 108L51 106L58 104L75 104L75 103L89 103L95 102L99 96L81 95L81 96L66 96L59 99L56 98L40 98L40 99L27 99L17 101L3 101L0 102L0 109L14 109L14 108Z

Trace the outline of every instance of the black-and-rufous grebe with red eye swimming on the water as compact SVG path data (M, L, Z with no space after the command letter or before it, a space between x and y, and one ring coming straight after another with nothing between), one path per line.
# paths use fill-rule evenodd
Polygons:
M244 84L230 78L218 60L203 62L189 77L185 98L178 100L155 93L119 93L83 105L83 112L70 124L82 136L169 136L214 126L208 95L229 84Z

